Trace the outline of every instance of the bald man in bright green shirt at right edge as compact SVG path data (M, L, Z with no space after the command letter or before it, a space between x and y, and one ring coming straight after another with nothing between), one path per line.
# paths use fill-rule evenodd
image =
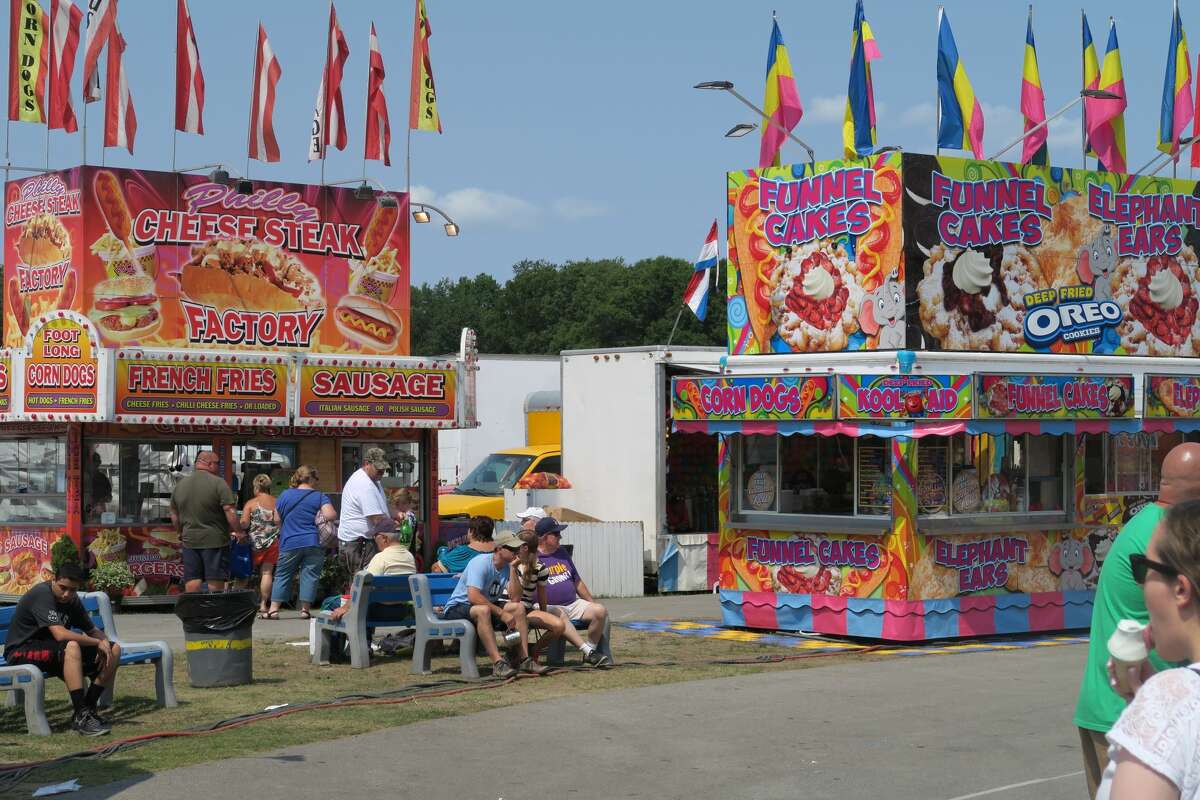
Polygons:
M1109 742L1104 735L1126 706L1124 699L1109 685L1109 637L1122 619L1150 621L1139 583L1145 579L1146 569L1157 570L1160 565L1145 560L1146 547L1168 507L1200 499L1200 444L1187 441L1171 449L1163 459L1160 474L1158 500L1134 515L1117 534L1096 587L1087 667L1075 705L1075 724L1084 751L1084 776L1093 798L1108 765ZM1151 654L1151 660L1156 668L1164 667L1154 654Z

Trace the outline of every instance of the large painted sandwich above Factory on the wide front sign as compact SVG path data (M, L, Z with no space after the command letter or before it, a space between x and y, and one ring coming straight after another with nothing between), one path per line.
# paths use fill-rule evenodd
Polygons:
M312 272L294 255L256 239L214 239L192 248L179 285L187 299L214 308L301 311L324 305Z

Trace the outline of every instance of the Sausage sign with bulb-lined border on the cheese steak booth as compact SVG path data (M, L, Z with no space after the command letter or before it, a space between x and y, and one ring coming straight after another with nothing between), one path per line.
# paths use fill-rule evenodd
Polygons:
M451 361L304 356L296 427L444 428L457 419Z

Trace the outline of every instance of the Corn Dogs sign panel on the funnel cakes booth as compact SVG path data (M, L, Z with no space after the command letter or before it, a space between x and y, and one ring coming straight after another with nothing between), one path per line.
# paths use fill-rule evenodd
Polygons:
M676 378L671 390L674 420L832 420L828 375Z

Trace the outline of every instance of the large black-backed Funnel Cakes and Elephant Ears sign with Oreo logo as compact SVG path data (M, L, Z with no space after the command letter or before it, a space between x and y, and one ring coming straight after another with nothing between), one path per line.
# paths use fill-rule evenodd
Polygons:
M905 155L926 349L1200 355L1190 181Z

